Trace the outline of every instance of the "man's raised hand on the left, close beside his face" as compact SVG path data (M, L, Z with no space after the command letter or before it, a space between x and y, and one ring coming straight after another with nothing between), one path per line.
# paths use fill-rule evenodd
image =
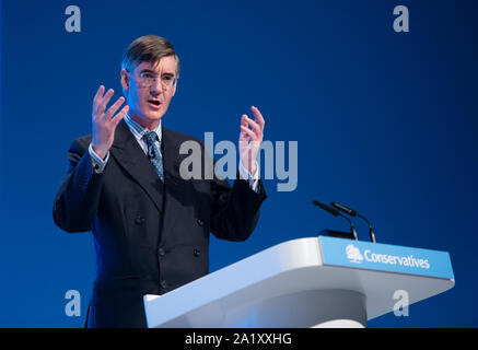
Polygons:
M125 102L125 97L123 96L119 97L115 104L108 108L108 110L106 110L106 105L112 98L114 91L113 89L109 89L106 94L103 95L104 92L105 86L101 85L93 100L93 141L91 144L93 151L103 160L106 158L106 154L108 154L108 151L113 145L116 127L129 110L129 106L126 105L116 116L114 116L116 110L118 110Z

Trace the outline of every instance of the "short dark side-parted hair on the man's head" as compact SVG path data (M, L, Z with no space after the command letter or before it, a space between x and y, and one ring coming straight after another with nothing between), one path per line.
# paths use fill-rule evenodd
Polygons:
M121 68L132 72L141 62L154 65L166 56L174 56L176 59L176 78L178 78L180 63L174 46L164 37L158 35L140 36L129 44L123 55Z

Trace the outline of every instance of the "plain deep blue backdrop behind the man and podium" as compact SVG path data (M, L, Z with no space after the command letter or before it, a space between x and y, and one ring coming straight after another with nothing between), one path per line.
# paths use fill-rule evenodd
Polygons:
M65 9L81 9L67 33ZM410 33L393 31L407 5ZM349 203L381 243L450 252L456 285L371 327L476 327L477 3L469 1L2 1L0 326L81 327L94 279L90 233L51 219L72 139L91 132L100 84L120 95L136 37L182 60L163 122L236 141L256 105L265 139L299 141L299 186L269 198L245 243L211 241L210 270L275 244L347 229L312 199ZM366 226L357 222L359 236ZM82 295L67 317L65 293Z

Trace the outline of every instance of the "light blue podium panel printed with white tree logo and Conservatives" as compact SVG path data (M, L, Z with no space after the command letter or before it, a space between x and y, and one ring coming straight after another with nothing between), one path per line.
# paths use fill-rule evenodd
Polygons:
M454 279L447 252L320 236L323 264Z

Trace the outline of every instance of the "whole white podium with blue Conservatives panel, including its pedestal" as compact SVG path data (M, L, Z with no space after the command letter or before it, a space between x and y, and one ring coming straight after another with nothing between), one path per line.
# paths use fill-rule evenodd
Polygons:
M278 244L143 301L148 327L366 327L454 284L446 252L319 236Z

